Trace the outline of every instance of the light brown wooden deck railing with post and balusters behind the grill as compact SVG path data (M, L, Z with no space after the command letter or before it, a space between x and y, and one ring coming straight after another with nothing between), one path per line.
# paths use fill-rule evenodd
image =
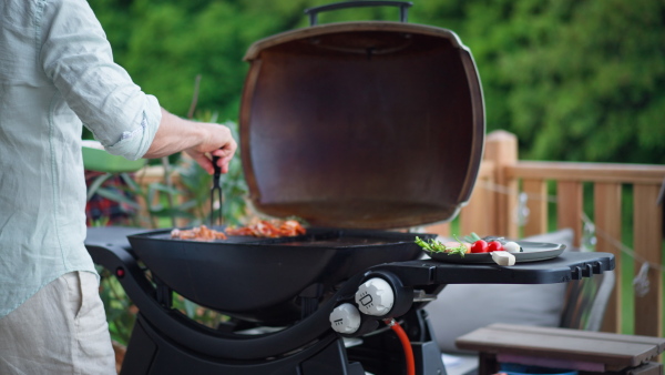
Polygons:
M504 131L487 138L484 160L469 204L460 212L462 234L477 232L510 237L548 232L548 229L571 227L575 245L582 241L584 225L584 184L593 185L593 224L595 249L616 256L616 275L622 275L621 240L624 220L632 220L635 274L644 261L648 271L649 291L635 297L634 334L663 335L663 206L657 204L665 183L665 165L606 164L576 162L530 162L518 160L518 142ZM555 195L549 193L555 185ZM622 212L622 190L633 191L633 212ZM521 193L525 193L520 195ZM519 225L515 211L520 196L526 196L528 221ZM555 219L550 219L550 202L554 202ZM626 219L627 217L627 219ZM555 220L550 223L549 220ZM426 229L442 235L450 234L450 224ZM628 236L630 237L630 236ZM607 306L603 331L621 333L622 282L617 281Z

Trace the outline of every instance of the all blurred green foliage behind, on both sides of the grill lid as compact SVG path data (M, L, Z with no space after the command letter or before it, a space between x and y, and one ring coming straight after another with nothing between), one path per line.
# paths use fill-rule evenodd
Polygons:
M307 27L332 1L91 0L115 59L164 108L236 121L255 41ZM421 0L410 22L456 31L473 52L488 130L523 159L664 163L665 3L661 0ZM397 20L396 8L326 12L320 23Z

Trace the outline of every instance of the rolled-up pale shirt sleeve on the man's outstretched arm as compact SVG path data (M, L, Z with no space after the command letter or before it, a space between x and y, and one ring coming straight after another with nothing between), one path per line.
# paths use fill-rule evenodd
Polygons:
M51 0L41 18L44 73L102 145L130 160L142 158L162 112L113 62L111 44L84 0Z

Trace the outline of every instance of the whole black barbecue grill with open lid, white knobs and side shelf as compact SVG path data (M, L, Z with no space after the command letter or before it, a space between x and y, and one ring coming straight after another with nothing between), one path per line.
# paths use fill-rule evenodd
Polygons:
M320 11L367 4L398 6L401 22L315 26ZM604 253L511 267L421 260L416 234L388 231L452 219L484 136L470 52L449 30L406 23L409 6L314 8L311 27L247 51L241 144L250 200L268 215L305 219L306 235L193 242L163 230L89 230L93 260L140 310L123 374L405 374L386 318L405 327L418 374L446 374L422 310L444 285L566 282L614 267ZM231 323L191 321L172 307L174 292Z

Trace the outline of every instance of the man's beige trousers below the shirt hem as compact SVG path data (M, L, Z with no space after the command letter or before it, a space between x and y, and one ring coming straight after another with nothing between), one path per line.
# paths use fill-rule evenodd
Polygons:
M116 374L94 274L68 273L0 318L0 374Z

